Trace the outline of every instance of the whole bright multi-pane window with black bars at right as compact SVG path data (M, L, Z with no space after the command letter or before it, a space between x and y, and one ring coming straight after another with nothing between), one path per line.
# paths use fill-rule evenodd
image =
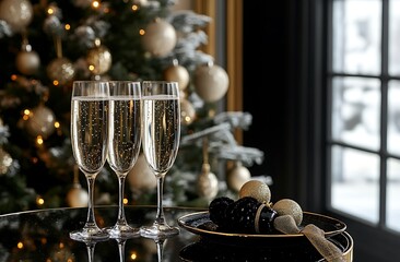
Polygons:
M331 8L328 205L400 234L400 1Z

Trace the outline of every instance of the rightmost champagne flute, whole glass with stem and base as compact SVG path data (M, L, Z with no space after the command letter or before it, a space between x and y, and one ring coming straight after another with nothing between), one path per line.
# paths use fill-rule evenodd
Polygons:
M151 226L141 226L146 238L167 238L179 228L167 225L163 211L164 178L173 166L180 140L180 105L177 82L142 82L142 148L157 180L157 212Z

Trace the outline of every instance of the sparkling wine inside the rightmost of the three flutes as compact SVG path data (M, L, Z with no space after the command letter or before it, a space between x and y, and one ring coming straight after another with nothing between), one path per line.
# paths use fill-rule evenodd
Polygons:
M156 176L175 162L180 138L180 106L177 96L143 97L143 151Z

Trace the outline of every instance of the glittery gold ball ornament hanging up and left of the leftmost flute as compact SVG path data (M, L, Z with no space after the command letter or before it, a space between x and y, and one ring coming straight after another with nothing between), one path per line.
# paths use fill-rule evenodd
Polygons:
M47 75L51 81L58 81L62 85L73 80L75 69L68 58L60 57L48 63Z

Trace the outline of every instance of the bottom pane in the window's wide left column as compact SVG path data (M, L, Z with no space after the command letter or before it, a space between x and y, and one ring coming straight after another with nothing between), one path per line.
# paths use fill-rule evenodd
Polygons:
M363 219L379 219L379 158L362 151L332 147L331 206Z

